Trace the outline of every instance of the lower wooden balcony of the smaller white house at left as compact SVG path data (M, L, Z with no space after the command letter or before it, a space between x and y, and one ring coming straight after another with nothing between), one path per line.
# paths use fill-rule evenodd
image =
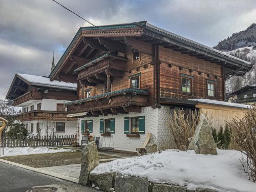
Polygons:
M16 120L19 121L32 121L32 120L76 120L75 118L67 117L67 112L58 111L43 111L34 110L26 113L20 113L15 115Z

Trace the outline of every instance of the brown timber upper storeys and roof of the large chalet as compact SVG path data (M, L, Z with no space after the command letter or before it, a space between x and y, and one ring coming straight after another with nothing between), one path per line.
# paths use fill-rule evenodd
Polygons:
M97 116L103 114L100 110L108 110L107 114L116 114L115 110L126 113L129 102L130 108L158 108L160 98L224 100L227 75L243 75L251 68L248 63L241 63L217 50L140 22L80 28L50 78L78 84L78 102L67 104L69 113L88 112ZM130 94L118 99L113 94L103 97L105 93L132 88L131 79L135 76L139 77L136 89L147 91L146 96L133 91L133 101ZM182 92L182 76L191 78L189 94ZM208 81L214 82L211 97L207 94ZM98 98L86 99L88 90L91 97ZM122 104L115 106L116 102Z

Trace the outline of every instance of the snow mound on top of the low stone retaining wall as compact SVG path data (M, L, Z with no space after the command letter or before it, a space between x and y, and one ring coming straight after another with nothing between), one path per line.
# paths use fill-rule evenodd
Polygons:
M92 173L116 172L144 177L157 183L187 186L189 189L255 192L256 183L248 180L239 161L240 157L240 152L231 150L218 150L218 155L166 150L99 164Z

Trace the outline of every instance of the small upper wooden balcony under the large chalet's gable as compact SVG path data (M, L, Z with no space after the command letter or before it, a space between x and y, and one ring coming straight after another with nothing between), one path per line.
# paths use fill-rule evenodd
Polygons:
M127 58L106 53L76 69L77 79L87 86L97 86L110 77L122 77Z

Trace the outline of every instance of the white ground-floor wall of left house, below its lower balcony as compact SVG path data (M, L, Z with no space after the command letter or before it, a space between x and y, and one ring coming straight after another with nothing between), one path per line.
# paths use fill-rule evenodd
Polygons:
M65 132L59 132L56 133L56 135L75 135L76 134L76 125L77 122L76 121L46 121L46 120L39 120L39 121L24 121L23 123L26 125L26 123L28 123L28 132L29 134L32 134L33 136L38 135L38 133L36 133L36 123L39 122L40 123L40 129L41 129L41 136L46 136L46 129L45 126L47 125L52 125L51 127L54 127L54 129L56 129L56 122L64 122L65 123ZM31 133L31 123L34 123L34 130L33 133ZM49 134L51 135L52 132L49 132ZM48 135L49 135L48 134Z

